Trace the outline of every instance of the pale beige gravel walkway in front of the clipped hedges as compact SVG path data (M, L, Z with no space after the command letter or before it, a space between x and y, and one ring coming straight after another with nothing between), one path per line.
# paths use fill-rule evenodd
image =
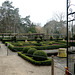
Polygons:
M54 75L64 75L64 71L55 67ZM8 49L1 43L0 75L51 75L51 66L34 66Z

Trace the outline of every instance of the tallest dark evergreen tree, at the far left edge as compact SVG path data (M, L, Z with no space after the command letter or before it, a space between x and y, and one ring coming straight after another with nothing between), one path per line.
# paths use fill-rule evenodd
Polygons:
M15 32L15 27L20 22L19 9L14 8L12 2L5 1L0 7L0 14L0 29L4 28L4 32Z

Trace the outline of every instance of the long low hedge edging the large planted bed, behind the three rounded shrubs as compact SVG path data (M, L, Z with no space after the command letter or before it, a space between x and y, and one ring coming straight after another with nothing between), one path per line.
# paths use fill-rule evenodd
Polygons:
M9 42L6 42L5 44L7 44ZM30 47L30 46L28 46ZM50 50L50 49L58 49L58 48L66 48L67 45L66 44L61 44L61 45L50 45L50 46L33 46L31 48L35 48L37 50ZM11 43L9 43L8 46L9 49L11 49L12 51L22 51L23 48L25 47L16 47L14 45L12 45Z

